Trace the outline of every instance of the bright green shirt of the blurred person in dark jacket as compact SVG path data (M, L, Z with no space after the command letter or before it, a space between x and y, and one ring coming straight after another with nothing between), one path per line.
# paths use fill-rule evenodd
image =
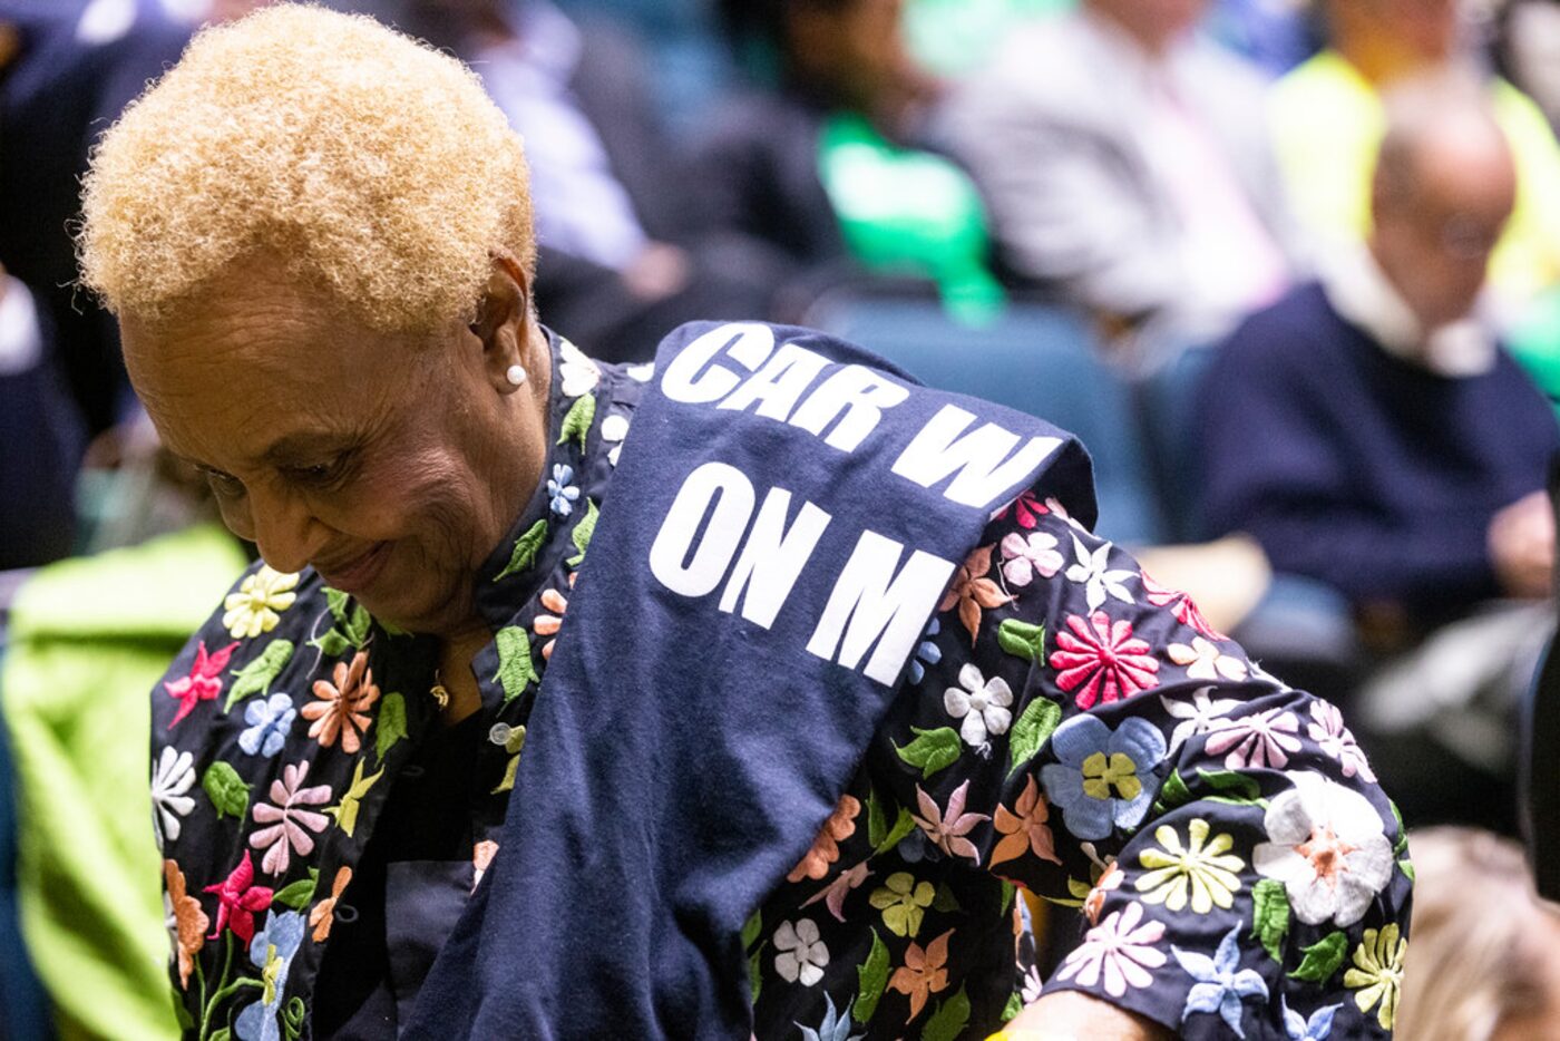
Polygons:
M863 117L841 112L819 137L819 176L846 245L867 270L930 276L964 322L1000 312L1002 287L986 268L986 212L963 170L889 144Z

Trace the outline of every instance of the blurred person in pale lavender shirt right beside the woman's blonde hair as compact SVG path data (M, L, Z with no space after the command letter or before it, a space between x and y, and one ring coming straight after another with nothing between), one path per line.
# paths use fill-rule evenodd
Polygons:
M537 301L594 356L644 361L691 318L769 314L771 259L697 242L699 194L629 36L549 0L406 0L404 25L470 61L529 142Z

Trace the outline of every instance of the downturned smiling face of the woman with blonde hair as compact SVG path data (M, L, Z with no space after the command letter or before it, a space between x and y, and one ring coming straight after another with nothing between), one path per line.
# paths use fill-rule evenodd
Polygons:
M495 378L507 359L465 326L385 336L264 278L195 318L122 331L164 443L267 563L314 565L404 629L470 624L474 573L541 471L544 373L510 393Z

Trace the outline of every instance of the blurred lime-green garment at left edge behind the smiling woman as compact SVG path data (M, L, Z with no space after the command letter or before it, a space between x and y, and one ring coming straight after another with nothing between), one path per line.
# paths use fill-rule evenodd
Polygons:
M11 610L22 935L59 1035L176 1038L147 691L246 560L203 524L41 570Z

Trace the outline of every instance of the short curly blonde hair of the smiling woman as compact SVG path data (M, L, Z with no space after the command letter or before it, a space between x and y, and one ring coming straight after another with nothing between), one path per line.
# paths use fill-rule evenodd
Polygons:
M253 258L384 332L471 320L495 250L532 272L519 137L463 64L306 5L203 30L92 156L81 281L165 322Z

